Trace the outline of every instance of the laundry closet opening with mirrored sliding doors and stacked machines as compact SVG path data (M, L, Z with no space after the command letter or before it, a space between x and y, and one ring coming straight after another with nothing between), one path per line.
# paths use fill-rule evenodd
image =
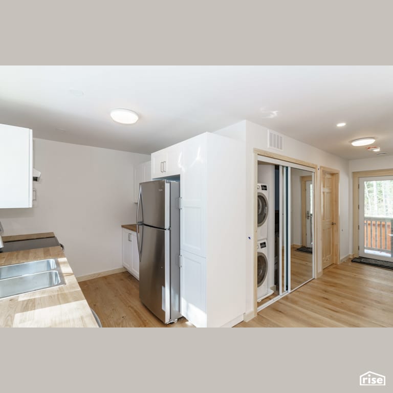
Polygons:
M257 157L258 311L315 277L315 169Z

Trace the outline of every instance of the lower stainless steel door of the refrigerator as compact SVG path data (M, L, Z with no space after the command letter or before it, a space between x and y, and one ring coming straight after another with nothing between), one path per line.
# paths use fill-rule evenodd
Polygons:
M170 231L143 225L140 239L139 298L159 319L170 319Z

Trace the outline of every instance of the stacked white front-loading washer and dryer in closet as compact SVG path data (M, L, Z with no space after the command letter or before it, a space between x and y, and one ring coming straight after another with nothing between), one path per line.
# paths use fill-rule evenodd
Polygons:
M269 216L269 187L267 184L257 184L257 300L270 296L273 291L269 287L269 275L274 270L274 261L269 260L268 216ZM272 206L274 204L272 203ZM270 214L274 214L273 210Z

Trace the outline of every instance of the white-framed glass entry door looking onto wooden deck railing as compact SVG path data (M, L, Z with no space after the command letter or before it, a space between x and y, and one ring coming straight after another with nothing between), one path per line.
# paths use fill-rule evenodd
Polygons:
M393 261L393 176L359 178L359 256Z

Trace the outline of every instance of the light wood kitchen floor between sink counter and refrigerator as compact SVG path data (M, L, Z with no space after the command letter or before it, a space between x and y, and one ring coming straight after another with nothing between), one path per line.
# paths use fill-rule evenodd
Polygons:
M103 328L188 328L185 318L168 324L161 322L139 300L139 281L128 272L79 282L90 307Z

